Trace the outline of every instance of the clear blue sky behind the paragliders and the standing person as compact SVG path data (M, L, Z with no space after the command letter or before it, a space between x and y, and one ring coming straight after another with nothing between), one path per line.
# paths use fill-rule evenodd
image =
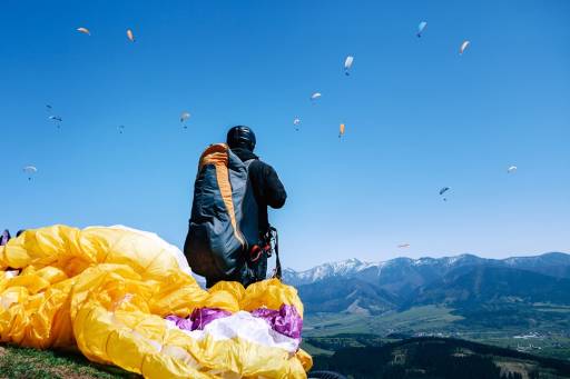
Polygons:
M569 251L569 41L566 0L4 0L0 226L181 246L200 151L244 123L289 195L287 267Z

